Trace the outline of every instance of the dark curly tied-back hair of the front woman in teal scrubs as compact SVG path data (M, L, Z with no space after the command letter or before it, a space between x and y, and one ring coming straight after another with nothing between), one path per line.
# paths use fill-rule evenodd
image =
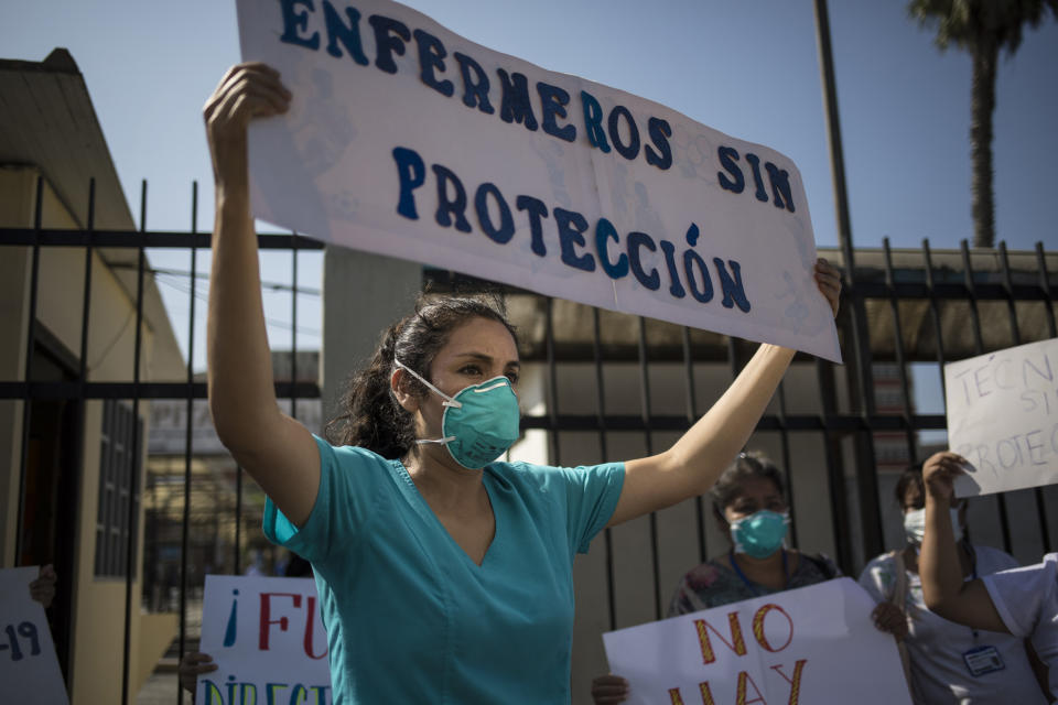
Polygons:
M327 423L327 441L367 448L388 459L407 455L414 448L415 429L412 415L390 392L393 358L429 379L433 359L452 332L474 318L501 323L517 344L517 333L507 321L499 296L420 296L414 313L382 333L371 361L349 378L339 413ZM409 384L415 395L429 391L414 378Z

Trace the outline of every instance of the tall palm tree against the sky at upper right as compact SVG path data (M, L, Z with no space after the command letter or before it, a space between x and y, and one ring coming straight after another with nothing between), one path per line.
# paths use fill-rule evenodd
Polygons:
M995 69L1000 51L1013 55L1022 43L1022 28L1039 25L1047 10L1058 17L1058 0L910 0L907 11L922 26L937 26L941 51L954 43L973 61L970 102L970 158L973 164L973 246L995 243L992 197L992 112L995 109Z

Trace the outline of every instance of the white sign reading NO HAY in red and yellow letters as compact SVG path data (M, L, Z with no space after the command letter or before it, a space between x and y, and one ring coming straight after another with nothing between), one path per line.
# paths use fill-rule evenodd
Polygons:
M874 600L839 578L603 634L631 704L910 703Z

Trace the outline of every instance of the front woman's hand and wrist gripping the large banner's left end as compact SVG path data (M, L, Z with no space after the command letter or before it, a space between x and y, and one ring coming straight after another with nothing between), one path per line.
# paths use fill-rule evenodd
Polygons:
M291 94L279 72L251 62L228 69L202 109L217 183L245 181L246 128L253 118L287 112Z

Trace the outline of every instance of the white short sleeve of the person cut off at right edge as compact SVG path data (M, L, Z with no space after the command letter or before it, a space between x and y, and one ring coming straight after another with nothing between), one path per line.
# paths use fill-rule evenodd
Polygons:
M1058 600L1058 554L1049 553L1043 563L993 573L981 578L995 610L1015 637L1033 634L1048 606Z

